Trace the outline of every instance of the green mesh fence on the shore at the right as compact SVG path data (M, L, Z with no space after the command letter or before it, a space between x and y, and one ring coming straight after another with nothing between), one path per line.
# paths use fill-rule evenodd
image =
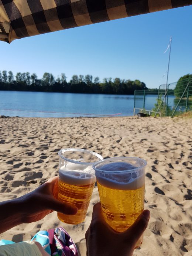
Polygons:
M192 79L160 85L159 89L134 91L134 115L175 116L192 111Z

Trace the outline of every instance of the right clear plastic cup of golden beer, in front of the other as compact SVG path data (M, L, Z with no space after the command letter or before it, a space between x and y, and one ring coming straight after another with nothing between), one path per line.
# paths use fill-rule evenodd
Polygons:
M136 157L113 157L93 164L104 219L117 232L128 229L144 209L146 164ZM142 242L143 237L136 248Z

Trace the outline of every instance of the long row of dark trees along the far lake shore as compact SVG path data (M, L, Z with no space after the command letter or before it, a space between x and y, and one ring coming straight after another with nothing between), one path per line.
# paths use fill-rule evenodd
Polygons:
M106 94L134 94L134 90L147 89L144 82L130 79L104 78L92 75L73 75L69 82L62 73L55 78L45 72L41 79L35 73L18 72L15 76L12 71L0 71L0 90L7 91L41 91L41 92L71 92L71 93L106 93Z

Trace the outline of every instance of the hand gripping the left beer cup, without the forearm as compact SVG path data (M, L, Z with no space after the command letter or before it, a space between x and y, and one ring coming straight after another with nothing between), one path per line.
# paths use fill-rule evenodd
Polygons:
M77 208L57 200L57 194L58 176L50 178L34 191L16 198L17 208L20 207L21 222L39 221L53 211L69 215L76 214Z

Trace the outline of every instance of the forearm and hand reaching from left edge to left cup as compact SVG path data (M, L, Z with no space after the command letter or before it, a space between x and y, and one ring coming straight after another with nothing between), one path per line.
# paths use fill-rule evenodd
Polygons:
M56 199L58 176L36 188L34 191L16 199L0 203L0 233L21 223L39 221L45 215L57 211L63 214L76 214L75 206Z

